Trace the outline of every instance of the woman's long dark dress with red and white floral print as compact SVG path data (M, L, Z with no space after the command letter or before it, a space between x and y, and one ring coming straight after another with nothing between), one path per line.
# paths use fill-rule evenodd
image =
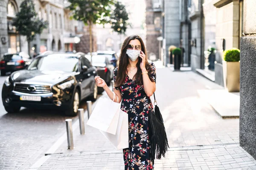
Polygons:
M148 76L156 81L156 69L154 63L150 63ZM117 69L114 70L114 81ZM153 170L150 159L150 141L148 140L148 115L153 108L144 91L143 85L135 82L126 74L125 82L119 89L122 95L121 109L128 113L129 123L129 148L123 150L125 170Z

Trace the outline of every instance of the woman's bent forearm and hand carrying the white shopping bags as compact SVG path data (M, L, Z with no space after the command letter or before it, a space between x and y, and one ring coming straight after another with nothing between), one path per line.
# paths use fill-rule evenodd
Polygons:
M96 85L99 86L99 87L103 87L103 89L107 92L108 97L111 100L113 100L114 94L111 91L111 89L108 88L108 85L105 83L105 81L102 78L100 78L99 76L95 76L94 79L95 79ZM115 98L114 98L114 102L117 103L117 97L116 96L118 96L118 103L120 103L122 101L122 95L121 95L120 91L114 89L114 93L116 94Z

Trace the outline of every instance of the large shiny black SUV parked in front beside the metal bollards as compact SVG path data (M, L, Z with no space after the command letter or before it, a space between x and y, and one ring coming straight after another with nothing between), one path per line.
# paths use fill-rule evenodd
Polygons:
M97 99L96 67L84 55L51 53L35 58L23 70L13 72L3 84L2 101L7 112L20 107L78 113L84 98Z

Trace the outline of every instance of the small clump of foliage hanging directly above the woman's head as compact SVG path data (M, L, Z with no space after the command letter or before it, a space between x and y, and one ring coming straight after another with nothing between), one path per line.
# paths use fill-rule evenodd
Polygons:
M128 19L129 17L125 6L120 2L116 2L115 9L111 14L111 28L118 34L125 34L127 27L131 26L131 24L128 23Z

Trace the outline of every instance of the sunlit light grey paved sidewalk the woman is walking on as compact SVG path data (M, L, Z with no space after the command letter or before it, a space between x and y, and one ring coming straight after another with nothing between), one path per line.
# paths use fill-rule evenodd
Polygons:
M156 98L165 121L170 149L155 161L155 170L256 170L256 161L239 147L239 119L222 119L199 89L223 89L191 71L157 69ZM124 170L116 151L99 130L74 131L74 150L67 141L38 170Z

